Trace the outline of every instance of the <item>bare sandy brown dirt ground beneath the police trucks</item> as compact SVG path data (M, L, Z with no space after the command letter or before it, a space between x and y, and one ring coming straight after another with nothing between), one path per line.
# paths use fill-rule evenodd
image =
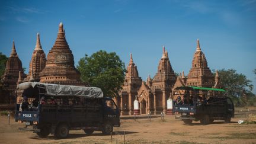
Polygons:
M193 122L191 126L174 116L161 118L121 120L121 127L114 127L111 136L94 132L86 135L83 130L71 130L67 139L55 139L53 135L40 138L33 132L18 130L18 124L11 118L0 116L0 143L256 143L256 124L238 124L242 118L232 119L232 123L214 121L206 126ZM123 133L126 135L124 136Z

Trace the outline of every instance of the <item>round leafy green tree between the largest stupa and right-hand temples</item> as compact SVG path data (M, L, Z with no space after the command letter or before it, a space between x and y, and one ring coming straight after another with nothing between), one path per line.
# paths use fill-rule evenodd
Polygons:
M126 69L116 53L100 50L82 57L78 66L81 80L91 87L101 88L106 97L115 97L124 82Z

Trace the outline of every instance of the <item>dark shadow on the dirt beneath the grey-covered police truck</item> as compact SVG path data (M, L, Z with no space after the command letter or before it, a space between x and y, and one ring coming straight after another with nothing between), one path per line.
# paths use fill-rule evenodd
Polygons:
M113 132L112 135L113 136L124 135L124 133L125 133L125 135L130 135L130 134L137 133L137 132L116 131L116 132ZM110 135L105 135L104 133L92 133L91 135L87 135L85 133L70 133L66 139L73 139L73 138L87 137L87 136L110 136ZM42 138L42 137L35 135L33 137L30 137L30 139L38 139L38 140L40 140L40 139L55 139L55 140L57 140L57 138L53 135L47 136L46 138Z

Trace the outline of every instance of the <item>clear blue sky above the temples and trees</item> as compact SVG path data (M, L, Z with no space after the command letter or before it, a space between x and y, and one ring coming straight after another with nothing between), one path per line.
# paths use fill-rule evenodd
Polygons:
M210 69L236 69L256 87L256 0L0 1L0 52L9 56L14 39L28 69L36 34L47 54L60 22L75 65L101 49L127 65L132 53L146 80L155 75L164 45L174 71L187 75L200 39Z

